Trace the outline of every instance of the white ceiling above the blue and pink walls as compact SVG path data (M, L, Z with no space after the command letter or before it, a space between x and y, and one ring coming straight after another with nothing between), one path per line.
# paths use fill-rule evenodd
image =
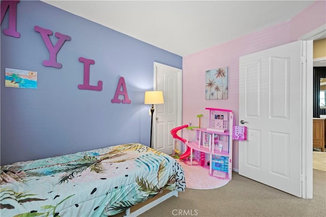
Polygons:
M48 1L133 38L187 56L290 20L313 1Z

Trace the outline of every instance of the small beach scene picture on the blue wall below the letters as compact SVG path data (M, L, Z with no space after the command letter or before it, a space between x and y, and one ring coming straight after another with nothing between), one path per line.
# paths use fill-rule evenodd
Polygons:
M6 68L5 87L37 89L37 72Z

